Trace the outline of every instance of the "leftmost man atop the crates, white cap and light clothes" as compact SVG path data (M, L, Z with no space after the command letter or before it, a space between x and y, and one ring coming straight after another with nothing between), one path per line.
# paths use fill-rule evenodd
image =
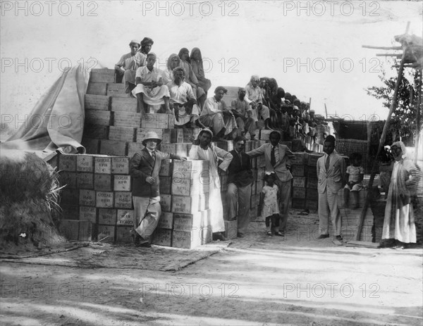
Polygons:
M125 92L130 93L135 88L135 71L147 64L145 54L138 52L140 41L133 39L130 44L130 53L124 54L115 65L116 82L125 84Z

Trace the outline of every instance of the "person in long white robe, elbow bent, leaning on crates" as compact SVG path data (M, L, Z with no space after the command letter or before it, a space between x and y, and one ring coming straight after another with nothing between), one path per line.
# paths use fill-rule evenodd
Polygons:
M225 231L225 222L223 222L223 206L221 199L221 184L219 179L219 168L226 171L232 161L232 154L213 146L213 132L209 129L200 131L197 142L190 149L189 158L191 160L209 161L209 200L212 221L212 232L214 240L226 241L226 237L221 232ZM223 160L219 165L219 159Z

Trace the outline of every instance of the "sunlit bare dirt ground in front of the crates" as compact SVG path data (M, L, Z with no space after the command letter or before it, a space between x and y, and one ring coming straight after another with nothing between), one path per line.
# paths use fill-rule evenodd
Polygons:
M247 236L187 251L68 244L1 259L1 325L422 325L422 246L317 240L292 211L286 237ZM303 227L298 227L303 225Z

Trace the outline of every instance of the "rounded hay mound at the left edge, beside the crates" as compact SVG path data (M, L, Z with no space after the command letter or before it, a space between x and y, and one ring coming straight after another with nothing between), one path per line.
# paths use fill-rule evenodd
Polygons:
M2 151L0 157L0 241L51 245L64 239L56 229L56 172L34 153Z

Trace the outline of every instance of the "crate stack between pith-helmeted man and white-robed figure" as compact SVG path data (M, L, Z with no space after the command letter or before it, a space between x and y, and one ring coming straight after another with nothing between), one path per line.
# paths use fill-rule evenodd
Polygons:
M159 175L162 213L153 244L192 249L212 241L209 162L166 160Z

